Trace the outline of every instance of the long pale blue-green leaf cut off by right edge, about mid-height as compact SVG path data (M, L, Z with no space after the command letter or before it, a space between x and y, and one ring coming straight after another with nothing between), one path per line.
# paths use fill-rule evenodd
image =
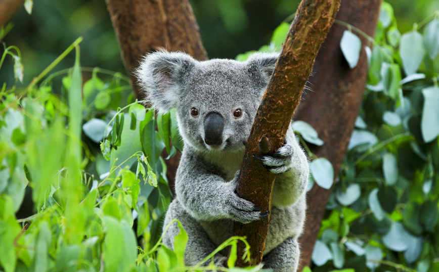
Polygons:
M422 110L421 132L425 143L433 141L439 135L439 87L427 87L422 90L424 106Z

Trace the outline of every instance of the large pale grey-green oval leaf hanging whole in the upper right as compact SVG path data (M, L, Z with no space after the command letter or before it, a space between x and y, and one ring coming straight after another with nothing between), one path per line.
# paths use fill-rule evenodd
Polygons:
M401 37L400 56L406 75L416 73L425 56L424 43L419 32L413 30Z

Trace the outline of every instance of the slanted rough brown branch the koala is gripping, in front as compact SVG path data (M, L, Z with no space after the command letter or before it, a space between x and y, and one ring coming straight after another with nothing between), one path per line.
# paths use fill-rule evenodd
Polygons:
M237 193L263 210L271 211L276 176L252 156L273 153L284 144L303 87L339 6L340 0L301 1L256 113L241 166ZM252 259L252 263L242 260L245 247L243 243L238 243L236 266L255 265L262 261L270 218L262 217L248 224L235 222L234 235L247 237Z

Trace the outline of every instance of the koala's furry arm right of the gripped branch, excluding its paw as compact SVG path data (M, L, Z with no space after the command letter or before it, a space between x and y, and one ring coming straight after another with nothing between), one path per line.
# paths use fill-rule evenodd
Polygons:
M292 149L288 165L290 170L276 177L273 189L273 205L276 207L294 204L306 191L310 174L308 159L296 142L291 127L288 128L285 142L285 146Z

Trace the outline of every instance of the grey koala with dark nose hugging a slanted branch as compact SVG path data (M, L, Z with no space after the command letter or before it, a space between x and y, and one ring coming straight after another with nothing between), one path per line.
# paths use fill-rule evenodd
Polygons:
M273 73L278 54L255 53L247 61L197 61L184 53L147 55L137 69L147 99L160 113L176 109L184 142L175 177L175 199L164 227L178 219L188 233L186 265L195 265L232 236L233 222L248 223L269 215L236 194L244 142ZM297 238L305 219L308 159L288 128L285 144L257 157L277 174L269 233L262 262L274 271L296 271ZM173 247L180 229L173 223L163 243ZM227 252L214 256L224 266ZM210 262L207 261L206 264Z

